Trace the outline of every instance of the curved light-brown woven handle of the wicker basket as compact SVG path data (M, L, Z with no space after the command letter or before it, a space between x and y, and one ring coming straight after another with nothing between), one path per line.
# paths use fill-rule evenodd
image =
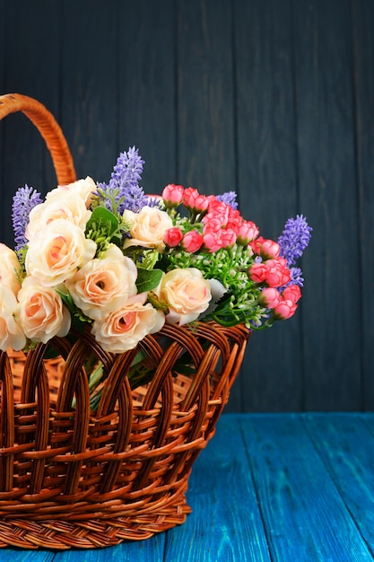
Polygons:
M57 125L53 115L39 101L20 93L6 93L0 96L0 120L17 111L22 111L32 121L46 141L58 184L73 183L76 180L73 157L61 127Z

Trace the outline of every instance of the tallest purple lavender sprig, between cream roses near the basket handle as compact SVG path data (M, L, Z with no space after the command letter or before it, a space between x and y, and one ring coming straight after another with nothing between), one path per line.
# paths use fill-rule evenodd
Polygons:
M117 206L117 213L121 215L126 209L138 213L147 205L144 189L139 186L143 164L144 160L139 156L135 146L129 148L128 152L119 154L109 184L98 184L105 193L105 206L110 211L115 210L113 200Z

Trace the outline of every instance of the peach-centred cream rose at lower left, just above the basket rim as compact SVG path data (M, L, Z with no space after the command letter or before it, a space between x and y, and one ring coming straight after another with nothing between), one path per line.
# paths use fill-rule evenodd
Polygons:
M18 294L15 318L27 338L46 344L54 336L63 337L70 329L70 313L53 287L26 277Z

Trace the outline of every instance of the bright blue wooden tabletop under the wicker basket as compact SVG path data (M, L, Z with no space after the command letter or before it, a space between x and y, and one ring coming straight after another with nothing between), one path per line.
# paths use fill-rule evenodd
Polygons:
M374 414L223 415L188 501L187 522L150 540L0 562L374 560Z

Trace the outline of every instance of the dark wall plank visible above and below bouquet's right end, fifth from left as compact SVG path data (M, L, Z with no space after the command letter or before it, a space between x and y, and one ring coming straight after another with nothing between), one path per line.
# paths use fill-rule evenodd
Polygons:
M235 16L240 206L265 238L276 240L287 218L301 212L291 7L277 0L237 0ZM254 333L240 375L244 410L301 408L301 349L299 311Z

